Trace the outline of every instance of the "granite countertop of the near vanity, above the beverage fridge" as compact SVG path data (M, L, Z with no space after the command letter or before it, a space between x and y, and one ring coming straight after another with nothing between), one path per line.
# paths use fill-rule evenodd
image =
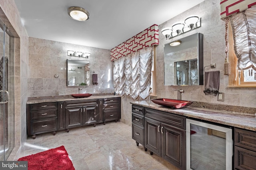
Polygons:
M151 101L136 101L130 103L136 104L138 106L174 113L177 115L184 115L187 117L256 131L256 116L251 113L249 114L242 112L193 107L192 105L181 109L171 109L168 107L160 106L158 104L154 104Z

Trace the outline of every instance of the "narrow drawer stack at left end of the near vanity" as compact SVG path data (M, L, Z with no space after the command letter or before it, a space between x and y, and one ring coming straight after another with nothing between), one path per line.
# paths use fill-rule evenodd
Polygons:
M144 107L132 105L132 139L144 146Z

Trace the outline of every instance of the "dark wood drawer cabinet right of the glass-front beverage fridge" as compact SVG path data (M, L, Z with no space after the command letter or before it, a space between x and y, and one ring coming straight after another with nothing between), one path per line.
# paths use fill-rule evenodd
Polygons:
M256 132L234 128L234 168L256 170Z

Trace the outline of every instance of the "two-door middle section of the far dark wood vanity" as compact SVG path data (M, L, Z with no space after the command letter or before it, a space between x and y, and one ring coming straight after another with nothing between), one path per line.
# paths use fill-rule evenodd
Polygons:
M98 99L65 102L66 129L98 123Z

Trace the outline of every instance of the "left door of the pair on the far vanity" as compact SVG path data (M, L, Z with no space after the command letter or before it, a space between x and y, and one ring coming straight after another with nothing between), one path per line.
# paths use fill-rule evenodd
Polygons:
M65 109L66 129L70 127L82 126L82 109L82 107L73 107Z

